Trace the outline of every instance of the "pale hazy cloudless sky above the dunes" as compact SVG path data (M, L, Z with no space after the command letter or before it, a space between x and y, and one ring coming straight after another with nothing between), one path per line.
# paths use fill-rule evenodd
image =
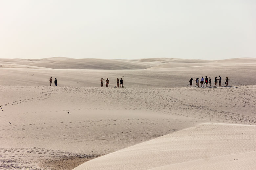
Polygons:
M0 0L0 58L256 57L255 0Z

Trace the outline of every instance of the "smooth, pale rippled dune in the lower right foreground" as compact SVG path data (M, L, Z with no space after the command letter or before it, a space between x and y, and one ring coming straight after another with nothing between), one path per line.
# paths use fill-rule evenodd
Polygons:
M249 170L256 168L255 145L256 126L208 123L96 158L74 170L225 170L234 165Z

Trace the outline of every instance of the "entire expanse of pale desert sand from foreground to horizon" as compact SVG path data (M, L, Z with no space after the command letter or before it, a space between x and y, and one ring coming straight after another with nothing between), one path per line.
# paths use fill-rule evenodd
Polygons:
M256 168L255 58L0 59L0 76L0 169Z

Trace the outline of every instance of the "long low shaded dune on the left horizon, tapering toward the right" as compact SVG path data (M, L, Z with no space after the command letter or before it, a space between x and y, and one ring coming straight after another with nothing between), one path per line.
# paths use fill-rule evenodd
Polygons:
M59 57L46 58L46 59L0 59L0 65L1 63L45 67L45 68L53 68L53 69L99 69L99 70L145 69L145 68L159 65L159 63L145 63L145 62L132 61L132 60L71 59L71 58L59 58ZM3 67L7 67L7 66L3 65Z

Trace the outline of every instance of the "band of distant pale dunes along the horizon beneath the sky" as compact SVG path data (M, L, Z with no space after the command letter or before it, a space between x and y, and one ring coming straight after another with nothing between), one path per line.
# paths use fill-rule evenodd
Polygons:
M45 59L0 59L4 68L52 68L52 69L96 69L96 70L134 70L147 69L164 65L165 63L183 63L180 66L197 66L202 63L220 64L226 62L256 62L255 58L237 58L225 60L149 58L149 59L72 59L53 57ZM172 65L166 65L172 68ZM165 68L166 68L165 67Z

